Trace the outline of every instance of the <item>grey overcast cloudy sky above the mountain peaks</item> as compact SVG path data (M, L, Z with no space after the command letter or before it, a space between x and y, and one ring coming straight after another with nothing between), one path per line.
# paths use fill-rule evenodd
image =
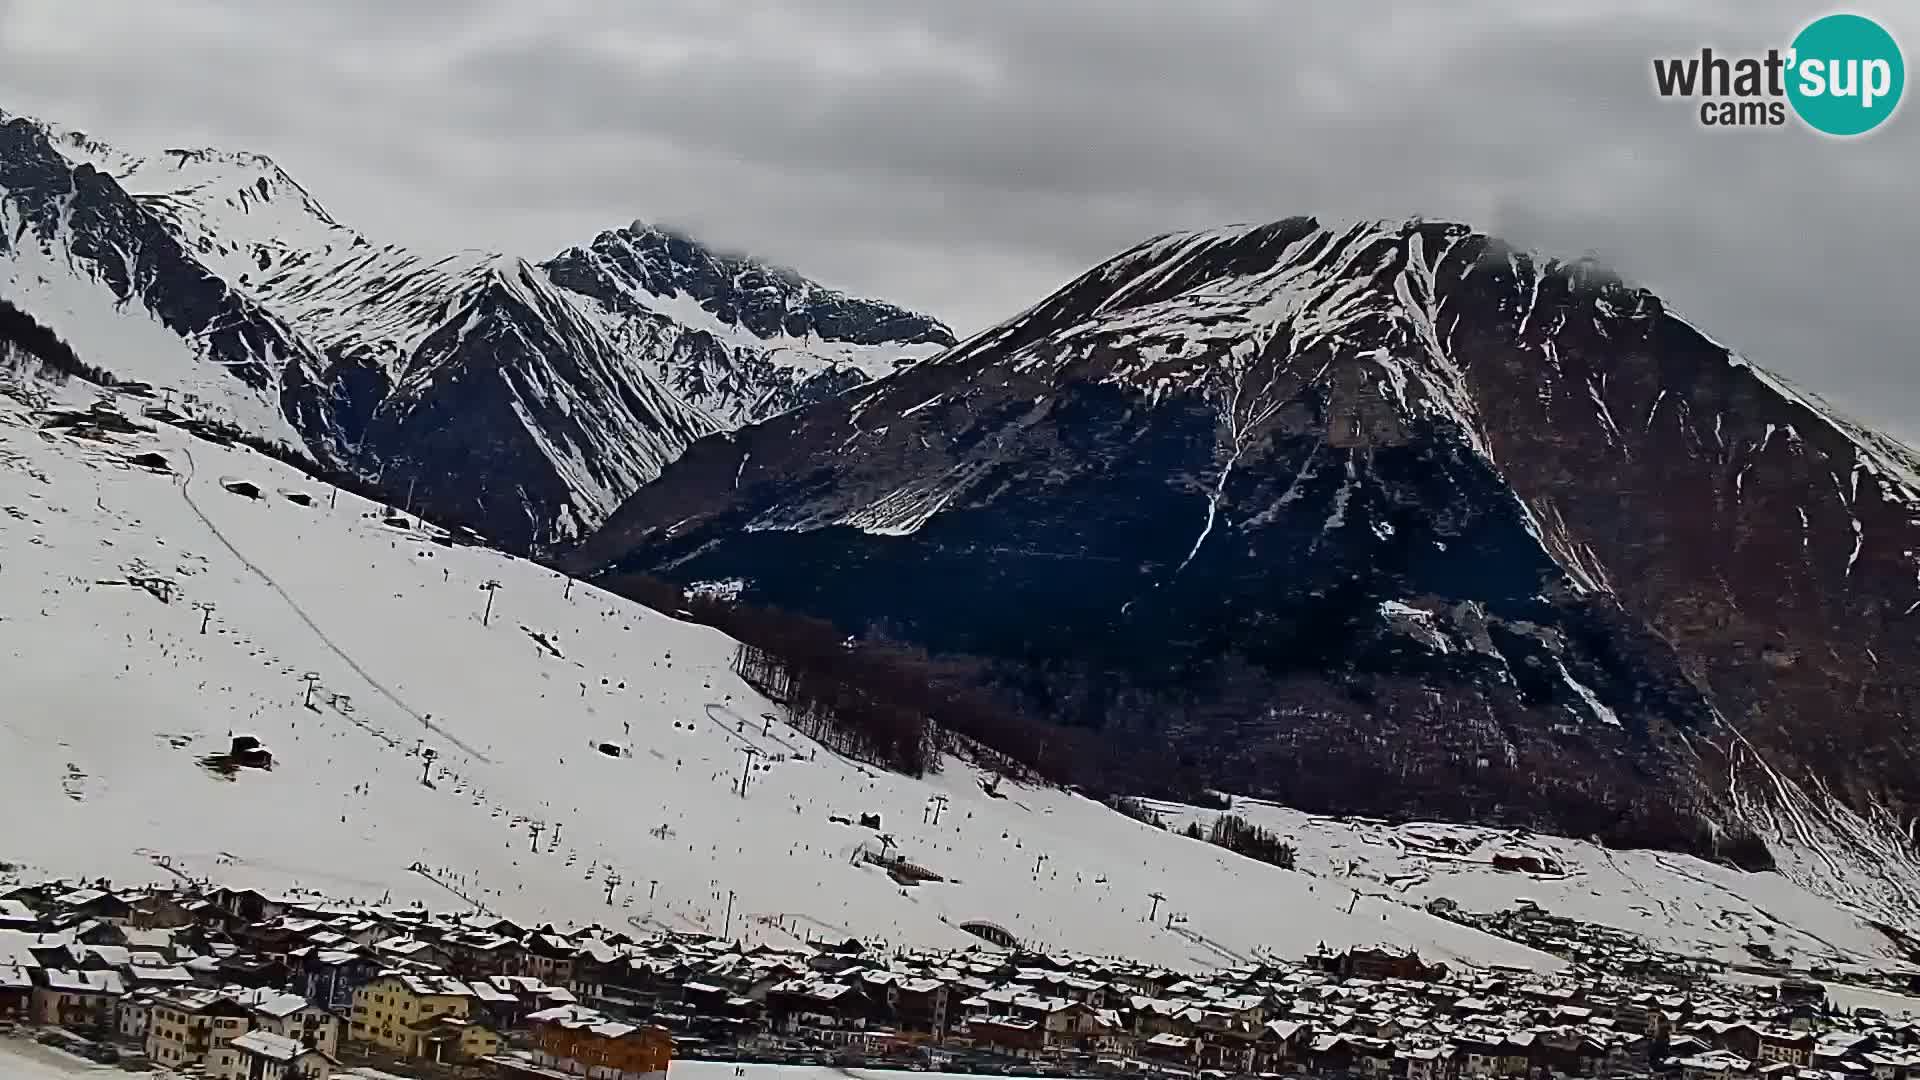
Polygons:
M1826 10L0 0L0 108L273 154L376 238L545 258L643 217L960 332L1167 229L1455 217L1596 252L1914 440L1916 106L1841 142L1651 90L1653 56ZM1853 10L1920 56L1920 8Z

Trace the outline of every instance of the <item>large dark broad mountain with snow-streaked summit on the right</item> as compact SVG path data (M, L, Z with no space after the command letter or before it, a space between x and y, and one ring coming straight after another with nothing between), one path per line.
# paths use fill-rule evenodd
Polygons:
M1594 265L1290 219L701 440L566 565L970 657L1108 782L1820 853L1912 913L1916 490Z

